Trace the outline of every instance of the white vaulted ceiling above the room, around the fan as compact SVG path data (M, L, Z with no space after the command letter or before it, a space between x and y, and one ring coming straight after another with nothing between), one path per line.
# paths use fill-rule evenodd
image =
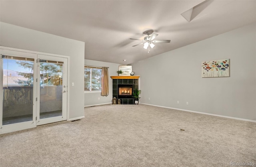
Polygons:
M0 1L1 22L84 41L85 59L125 65L255 20L256 0ZM148 29L159 34L156 40L171 42L156 43L150 53L143 45L132 47L140 41L129 38L143 39Z

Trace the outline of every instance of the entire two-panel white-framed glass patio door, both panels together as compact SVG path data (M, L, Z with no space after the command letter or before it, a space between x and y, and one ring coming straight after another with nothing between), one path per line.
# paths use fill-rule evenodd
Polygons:
M5 49L0 55L0 133L67 120L67 58Z

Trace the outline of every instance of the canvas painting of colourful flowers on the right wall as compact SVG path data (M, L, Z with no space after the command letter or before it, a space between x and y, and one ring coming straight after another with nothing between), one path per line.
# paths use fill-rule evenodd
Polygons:
M202 78L207 77L229 77L229 59L203 61Z

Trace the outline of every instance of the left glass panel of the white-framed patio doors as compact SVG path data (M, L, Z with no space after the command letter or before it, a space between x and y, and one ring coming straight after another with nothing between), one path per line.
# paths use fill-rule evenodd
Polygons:
M1 51L1 132L31 128L35 123L36 54Z

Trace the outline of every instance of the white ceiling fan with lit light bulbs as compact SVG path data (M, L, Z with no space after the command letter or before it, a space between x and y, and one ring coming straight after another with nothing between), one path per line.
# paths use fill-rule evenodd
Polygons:
M154 43L170 43L170 41L171 41L171 40L153 40L153 39L155 39L155 37L157 37L158 34L153 33L151 36L149 36L151 33L152 33L152 31L146 31L146 34L148 36L144 37L144 40L129 38L132 40L143 41L142 43L133 45L132 47L144 44L143 48L148 49L148 53L149 53L150 47L153 48L155 46Z

